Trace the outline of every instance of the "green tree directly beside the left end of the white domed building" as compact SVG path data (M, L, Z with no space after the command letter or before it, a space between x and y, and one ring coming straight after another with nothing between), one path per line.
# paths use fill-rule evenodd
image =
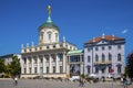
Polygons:
M18 56L12 57L12 62L9 65L11 76L20 76L21 74L21 66Z

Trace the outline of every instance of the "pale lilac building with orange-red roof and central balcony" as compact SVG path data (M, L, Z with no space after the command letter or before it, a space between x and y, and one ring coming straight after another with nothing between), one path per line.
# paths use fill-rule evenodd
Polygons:
M125 38L104 34L84 43L84 75L121 77L125 67L124 44Z

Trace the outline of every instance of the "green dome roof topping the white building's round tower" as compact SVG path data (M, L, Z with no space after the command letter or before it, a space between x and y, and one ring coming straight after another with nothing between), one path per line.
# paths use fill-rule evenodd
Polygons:
M39 26L39 30L41 29L55 29L57 31L59 31L59 28L51 21L50 16L48 18L47 22Z

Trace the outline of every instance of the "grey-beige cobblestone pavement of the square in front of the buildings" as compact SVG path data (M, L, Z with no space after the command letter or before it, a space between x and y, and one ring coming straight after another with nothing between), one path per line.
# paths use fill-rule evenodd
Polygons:
M12 79L0 79L0 88L124 88L120 82L85 82L84 87L79 87L78 81L60 81L60 80L45 80L45 79L20 79L18 85L14 86ZM133 85L127 88L133 88Z

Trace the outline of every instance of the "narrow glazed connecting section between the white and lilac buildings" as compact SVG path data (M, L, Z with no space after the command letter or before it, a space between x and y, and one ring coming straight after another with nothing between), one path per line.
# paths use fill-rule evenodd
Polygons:
M83 50L68 52L68 74L70 77L83 74Z

